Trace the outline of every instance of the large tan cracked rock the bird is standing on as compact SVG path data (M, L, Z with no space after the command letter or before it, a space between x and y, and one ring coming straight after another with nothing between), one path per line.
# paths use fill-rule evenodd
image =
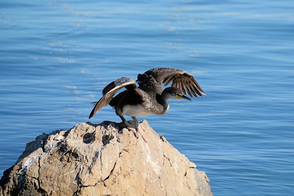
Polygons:
M140 123L148 142L121 123L80 123L43 133L4 171L1 195L212 195L196 165Z

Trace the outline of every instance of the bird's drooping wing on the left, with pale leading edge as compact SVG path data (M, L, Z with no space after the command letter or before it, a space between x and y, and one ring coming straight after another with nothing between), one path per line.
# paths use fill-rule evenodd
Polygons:
M95 107L93 108L89 118L92 118L92 116L95 115L96 112L98 112L101 108L107 106L115 93L117 93L123 87L143 98L141 90L137 87L136 82L133 79L128 77L118 78L116 81L111 82L103 89L103 97L99 101L92 103L93 105L95 105Z

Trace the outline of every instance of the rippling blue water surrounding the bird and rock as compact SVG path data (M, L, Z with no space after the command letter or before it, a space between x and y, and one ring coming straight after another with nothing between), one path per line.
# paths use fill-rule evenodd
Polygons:
M111 81L173 67L207 96L138 120L214 195L293 195L293 1L2 0L0 32L1 174L36 136L87 122ZM121 121L110 106L103 120Z

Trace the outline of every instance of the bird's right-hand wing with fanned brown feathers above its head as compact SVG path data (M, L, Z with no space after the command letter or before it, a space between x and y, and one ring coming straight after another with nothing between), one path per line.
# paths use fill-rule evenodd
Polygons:
M162 86L168 85L171 81L171 86L181 89L184 94L186 92L191 97L206 95L194 77L186 71L174 69L174 68L154 68L146 71L143 74L138 75L139 86L144 86L147 76L153 76L153 78Z

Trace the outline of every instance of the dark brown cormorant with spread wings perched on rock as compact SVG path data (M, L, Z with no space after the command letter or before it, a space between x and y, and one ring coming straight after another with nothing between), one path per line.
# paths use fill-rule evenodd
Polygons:
M163 90L163 84L166 86L170 82L171 86ZM126 90L113 97L122 88ZM89 119L109 104L126 128L132 131L136 138L140 133L143 140L147 142L136 116L164 115L169 110L170 98L192 101L191 98L186 97L186 93L192 98L197 95L202 97L201 94L206 95L194 77L186 71L175 68L153 68L138 74L136 81L129 77L122 77L108 84L102 91L102 98L91 103L95 107ZM133 120L127 121L123 115L131 116Z

